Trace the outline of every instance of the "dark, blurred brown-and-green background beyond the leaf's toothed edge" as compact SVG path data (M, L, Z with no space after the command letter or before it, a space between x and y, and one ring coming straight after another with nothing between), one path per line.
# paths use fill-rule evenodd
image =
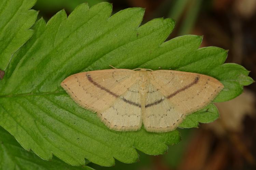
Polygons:
M103 0L107 1L107 0ZM33 7L45 20L65 8L70 14L79 4L102 0L38 0ZM176 26L169 39L185 34L204 35L204 46L228 49L227 63L250 70L256 80L256 0L108 0L113 13L128 7L146 8L143 23L158 17L173 18ZM143 24L142 23L142 24ZM255 170L256 83L228 102L216 104L220 119L200 124L199 129L179 129L182 141L168 153L150 156L139 152L140 161L95 169L134 170Z

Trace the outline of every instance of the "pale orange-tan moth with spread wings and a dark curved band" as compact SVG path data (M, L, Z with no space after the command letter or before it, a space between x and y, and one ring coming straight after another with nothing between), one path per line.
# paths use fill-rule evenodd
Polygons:
M106 69L70 75L61 86L116 131L174 130L208 105L223 84L208 75L150 69Z

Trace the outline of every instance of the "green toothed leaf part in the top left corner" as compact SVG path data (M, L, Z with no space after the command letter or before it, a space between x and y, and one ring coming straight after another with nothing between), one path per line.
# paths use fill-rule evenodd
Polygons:
M13 53L33 34L28 30L37 19L29 10L36 0L0 0L0 69L5 70Z

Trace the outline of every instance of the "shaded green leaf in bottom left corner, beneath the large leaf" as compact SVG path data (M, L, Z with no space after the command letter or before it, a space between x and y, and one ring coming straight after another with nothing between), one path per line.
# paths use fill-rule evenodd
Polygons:
M54 157L51 161L39 158L31 151L23 149L14 137L0 127L0 169L40 169L40 170L93 170L88 166L72 167Z

